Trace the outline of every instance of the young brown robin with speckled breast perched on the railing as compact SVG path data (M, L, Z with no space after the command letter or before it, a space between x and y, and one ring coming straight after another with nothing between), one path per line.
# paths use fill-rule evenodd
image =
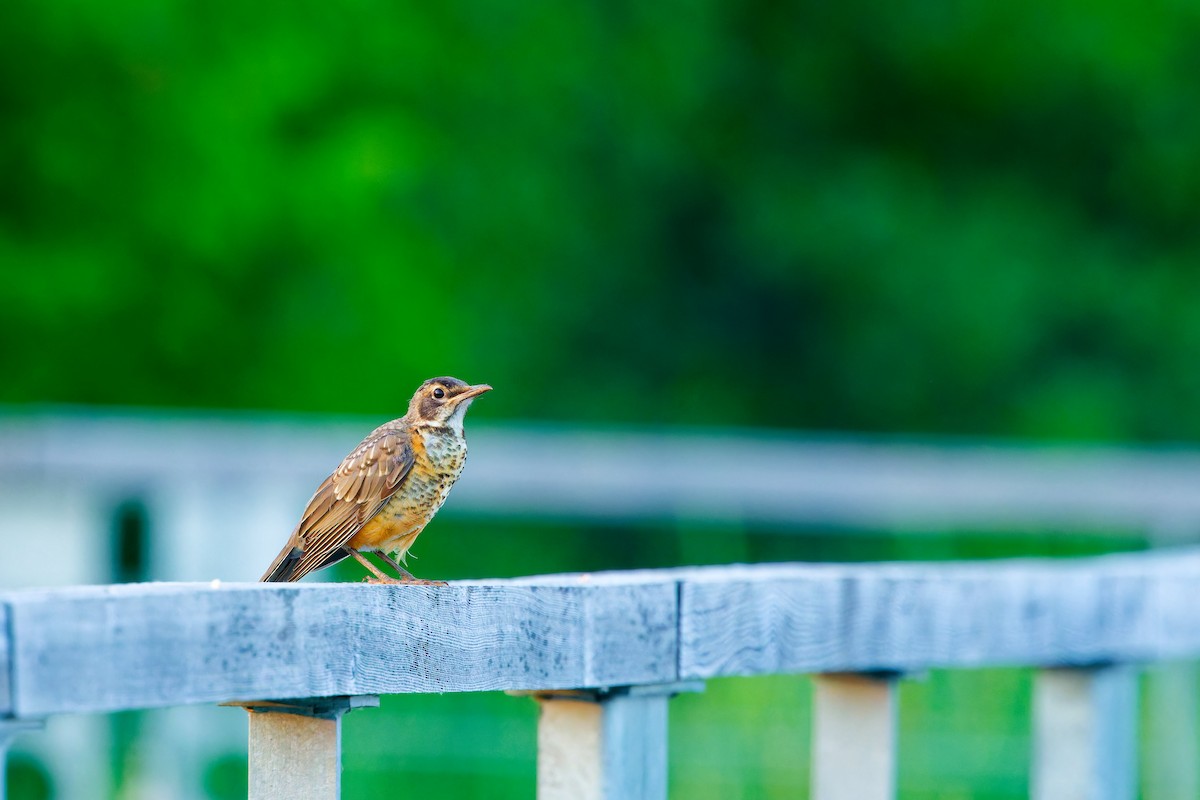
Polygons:
M457 378L421 384L408 414L372 431L317 488L262 581L299 581L354 557L376 576L372 583L431 583L418 581L388 554L403 561L445 503L467 461L467 407L491 389ZM364 551L374 551L395 567L400 581L367 560Z

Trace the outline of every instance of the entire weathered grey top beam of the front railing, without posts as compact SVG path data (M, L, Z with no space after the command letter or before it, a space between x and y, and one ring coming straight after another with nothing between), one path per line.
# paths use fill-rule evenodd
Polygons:
M16 717L263 697L601 688L718 675L1200 654L1200 551L760 565L487 584L0 594ZM7 637L0 636L0 639Z

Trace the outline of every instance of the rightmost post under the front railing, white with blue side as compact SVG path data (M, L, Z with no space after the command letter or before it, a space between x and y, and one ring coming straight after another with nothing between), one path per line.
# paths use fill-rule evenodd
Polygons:
M1138 670L1043 669L1033 684L1033 800L1138 795Z

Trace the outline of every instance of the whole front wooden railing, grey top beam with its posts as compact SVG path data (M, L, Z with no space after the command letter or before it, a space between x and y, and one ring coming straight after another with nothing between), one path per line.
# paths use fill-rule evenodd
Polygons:
M252 798L335 798L342 716L384 693L541 704L539 796L665 798L667 702L812 673L812 796L895 795L896 682L1039 667L1032 795L1136 794L1139 664L1200 654L1200 551L758 565L449 587L132 584L0 595L11 734L56 714L232 703ZM230 711L232 712L232 711Z

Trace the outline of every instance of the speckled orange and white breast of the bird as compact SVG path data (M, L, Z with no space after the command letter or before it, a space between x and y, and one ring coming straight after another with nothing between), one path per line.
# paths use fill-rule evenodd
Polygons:
M433 518L467 463L467 439L446 428L425 428L413 438L413 470L379 513L350 545L403 558Z

